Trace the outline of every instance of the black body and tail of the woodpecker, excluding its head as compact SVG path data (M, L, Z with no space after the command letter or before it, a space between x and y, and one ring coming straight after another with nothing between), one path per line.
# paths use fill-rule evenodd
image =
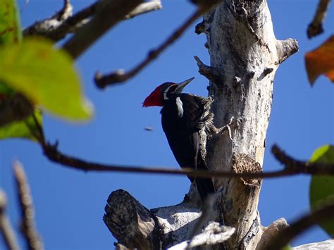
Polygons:
M168 99L161 109L163 131L181 168L207 170L206 163L199 152L199 130L205 126L208 119L212 120L211 102L211 99L200 96L180 94ZM189 179L197 183L202 199L214 192L211 180L199 177L189 177Z

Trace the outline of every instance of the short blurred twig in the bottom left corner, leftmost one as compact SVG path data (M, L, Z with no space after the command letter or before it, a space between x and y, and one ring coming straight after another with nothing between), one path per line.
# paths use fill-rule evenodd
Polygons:
M6 215L6 203L6 194L0 189L0 233L8 250L18 250L16 235Z

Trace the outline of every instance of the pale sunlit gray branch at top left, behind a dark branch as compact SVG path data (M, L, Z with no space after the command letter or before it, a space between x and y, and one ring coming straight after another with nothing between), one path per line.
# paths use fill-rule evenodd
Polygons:
M75 15L72 15L72 9L70 10L70 13L66 16L61 15L62 12L59 11L51 18L41 20L25 28L25 30L23 30L23 35L42 35L57 42L60 39L63 39L69 33L76 32L78 28L82 27L82 25L87 23L89 21L88 18L91 18L92 15L94 15L99 9L99 5L100 1L97 1L91 6L87 6L78 13L75 13ZM66 9L65 6L63 7L63 9ZM133 18L136 15L141 15L149 11L156 11L160 8L162 8L161 1L149 1L147 3L143 3L137 6L137 8L128 13L128 15L125 15L123 19Z

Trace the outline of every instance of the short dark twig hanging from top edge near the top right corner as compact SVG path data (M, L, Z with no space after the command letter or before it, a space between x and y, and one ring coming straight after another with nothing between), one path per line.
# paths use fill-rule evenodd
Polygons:
M312 23L307 27L307 37L309 37L309 39L316 37L323 32L323 20L326 18L329 4L330 0L319 1Z

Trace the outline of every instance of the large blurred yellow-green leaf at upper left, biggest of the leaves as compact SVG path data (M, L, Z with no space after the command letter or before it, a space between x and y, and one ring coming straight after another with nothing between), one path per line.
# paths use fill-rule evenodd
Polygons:
M92 106L82 96L78 74L65 51L41 38L0 47L0 81L33 104L69 120L87 120Z

